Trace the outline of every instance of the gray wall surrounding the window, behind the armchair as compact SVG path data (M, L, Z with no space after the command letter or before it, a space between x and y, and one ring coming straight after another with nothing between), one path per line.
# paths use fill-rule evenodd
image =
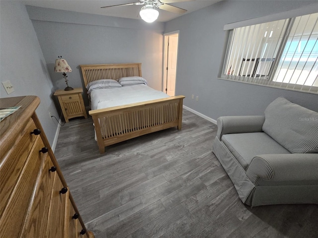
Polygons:
M221 1L171 20L165 33L179 30L176 94L184 105L212 119L229 115L263 115L277 97L318 112L318 95L217 79L225 51L228 23L296 9L317 1ZM199 101L191 95L199 96Z

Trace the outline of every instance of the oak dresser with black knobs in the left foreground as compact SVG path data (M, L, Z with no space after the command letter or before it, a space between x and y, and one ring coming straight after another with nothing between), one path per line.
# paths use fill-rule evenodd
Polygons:
M0 237L94 238L86 231L35 113L36 96L0 99L22 106L0 122Z

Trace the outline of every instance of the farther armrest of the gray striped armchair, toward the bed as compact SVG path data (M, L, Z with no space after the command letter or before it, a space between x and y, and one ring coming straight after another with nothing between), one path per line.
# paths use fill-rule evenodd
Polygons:
M262 132L265 116L227 116L217 120L217 136L221 140L224 134Z

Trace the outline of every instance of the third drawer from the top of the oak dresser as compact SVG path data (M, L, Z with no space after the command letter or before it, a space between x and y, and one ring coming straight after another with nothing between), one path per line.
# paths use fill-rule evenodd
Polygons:
M54 170L55 168L53 167L51 158L48 154L46 155L41 166L41 177L35 188L36 195L31 207L27 226L23 231L24 234L22 234L22 237L25 238L47 237L52 187L57 172Z

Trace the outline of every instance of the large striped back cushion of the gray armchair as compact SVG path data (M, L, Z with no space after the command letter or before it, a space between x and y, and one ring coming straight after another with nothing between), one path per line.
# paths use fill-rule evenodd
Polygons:
M285 98L268 105L263 131L291 153L318 153L318 113Z

